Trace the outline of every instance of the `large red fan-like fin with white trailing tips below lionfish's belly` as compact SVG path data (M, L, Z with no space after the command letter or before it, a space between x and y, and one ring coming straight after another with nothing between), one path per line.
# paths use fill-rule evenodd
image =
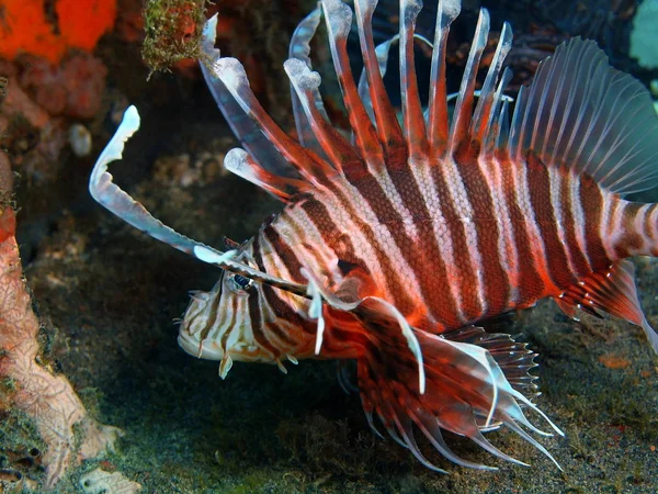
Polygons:
M465 436L490 453L526 465L492 446L483 433L504 426L533 445L558 468L551 453L527 431L542 436L524 416L522 408L540 414L563 434L531 401L535 396L535 353L508 335L487 334L466 327L447 335L413 329L422 352L424 392L418 382L418 361L402 337L398 322L368 310L351 314L327 307L326 345L349 340L358 347L358 379L361 401L371 427L379 417L390 437L408 448L426 467L444 472L420 451L413 429L449 460L480 470L492 467L475 463L455 454L445 444L441 429ZM354 319L353 316L356 316Z

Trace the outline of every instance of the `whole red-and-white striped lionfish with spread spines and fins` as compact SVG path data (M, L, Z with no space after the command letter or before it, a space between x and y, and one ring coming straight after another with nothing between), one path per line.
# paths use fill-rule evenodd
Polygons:
M535 353L481 326L552 297L572 318L603 311L642 326L658 351L627 259L658 256L658 204L623 199L658 176L650 97L593 42L574 38L541 64L512 113L509 24L475 89L489 32L483 9L449 110L446 41L460 0L439 1L433 43L415 35L420 0L400 0L399 34L377 47L376 3L354 1L364 63L358 82L349 5L322 0L295 31L284 68L297 138L259 104L240 63L215 49L216 18L207 22L201 67L243 147L226 155L225 167L285 204L253 238L218 251L163 225L112 182L107 164L139 126L134 106L99 157L91 194L148 235L222 268L212 291L193 295L179 335L186 352L220 361L222 378L234 360L282 370L284 360L355 360L370 426L376 431L378 417L424 465L444 472L421 453L416 429L460 465L492 469L455 454L442 429L525 464L484 437L502 426L555 462L530 433L548 434L525 417L538 414L561 434L532 402ZM322 14L351 137L329 122L310 68ZM427 110L416 43L432 50ZM399 120L383 82L396 44Z

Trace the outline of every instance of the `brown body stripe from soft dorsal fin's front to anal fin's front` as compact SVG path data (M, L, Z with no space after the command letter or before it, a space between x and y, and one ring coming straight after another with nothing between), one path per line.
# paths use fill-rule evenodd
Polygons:
M527 156L527 189L530 202L540 228L548 276L553 283L561 289L572 285L578 279L571 272L565 246L559 242L557 220L551 203L551 176L548 168L533 153Z

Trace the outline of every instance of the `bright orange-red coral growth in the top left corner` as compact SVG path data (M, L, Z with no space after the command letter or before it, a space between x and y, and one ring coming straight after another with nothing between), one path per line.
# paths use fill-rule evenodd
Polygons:
M21 53L59 63L68 48L91 52L114 26L116 0L0 0L0 57Z

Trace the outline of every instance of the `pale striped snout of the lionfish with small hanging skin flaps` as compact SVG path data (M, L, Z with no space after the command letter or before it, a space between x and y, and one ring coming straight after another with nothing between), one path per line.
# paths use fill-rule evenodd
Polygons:
M220 360L223 377L232 360L268 360L253 338L248 290L256 290L249 279L225 273L209 292L191 293L183 316L179 345L194 357Z

